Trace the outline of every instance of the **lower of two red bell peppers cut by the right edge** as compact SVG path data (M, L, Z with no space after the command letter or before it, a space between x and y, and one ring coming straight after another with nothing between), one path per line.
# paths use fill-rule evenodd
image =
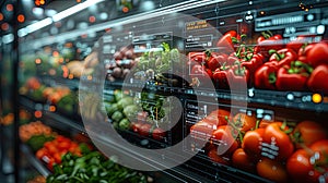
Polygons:
M315 93L323 93L328 95L328 65L320 64L312 72L308 81L307 87Z

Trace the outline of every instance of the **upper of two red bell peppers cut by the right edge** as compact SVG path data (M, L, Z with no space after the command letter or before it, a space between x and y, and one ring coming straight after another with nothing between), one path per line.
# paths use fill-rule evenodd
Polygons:
M315 44L306 54L308 63L316 68L319 64L328 64L328 45L324 41Z

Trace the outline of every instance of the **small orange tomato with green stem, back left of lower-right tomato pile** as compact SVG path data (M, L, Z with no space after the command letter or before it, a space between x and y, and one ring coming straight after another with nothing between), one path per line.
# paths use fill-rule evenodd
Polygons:
M255 127L256 125L256 118L254 115L247 115L245 113L237 113L233 121L235 125L238 127L242 132L247 132Z

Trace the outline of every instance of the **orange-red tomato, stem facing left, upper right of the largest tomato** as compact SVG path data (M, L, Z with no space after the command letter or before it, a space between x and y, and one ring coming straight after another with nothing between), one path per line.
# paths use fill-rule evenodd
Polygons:
M300 122L293 132L293 139L296 144L296 148L301 146L309 146L313 143L327 138L327 131L317 122L302 121Z

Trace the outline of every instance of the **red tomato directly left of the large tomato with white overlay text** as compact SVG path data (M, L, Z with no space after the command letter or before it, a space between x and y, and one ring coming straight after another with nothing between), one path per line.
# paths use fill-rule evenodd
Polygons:
M242 148L248 156L259 158L261 156L261 144L263 141L265 129L257 129L246 132Z

